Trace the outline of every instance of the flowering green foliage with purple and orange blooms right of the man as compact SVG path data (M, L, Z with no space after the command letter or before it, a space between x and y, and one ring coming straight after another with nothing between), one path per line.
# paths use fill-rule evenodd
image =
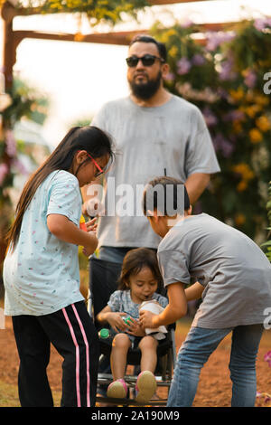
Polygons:
M201 30L202 31L202 30ZM153 35L165 42L171 71L168 90L197 105L209 127L221 173L195 205L251 238L261 239L271 175L271 99L265 94L271 71L271 21L240 22L227 33L204 33L192 24ZM271 78L271 73L270 73Z

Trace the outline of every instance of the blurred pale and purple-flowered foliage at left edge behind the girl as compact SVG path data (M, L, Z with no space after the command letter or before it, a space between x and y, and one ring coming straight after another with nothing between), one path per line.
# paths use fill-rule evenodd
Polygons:
M3 90L1 90L3 91ZM27 177L33 173L50 148L42 137L49 99L21 80L2 103L0 133L0 270L5 258L5 233L14 218L14 207ZM4 98L4 99L5 99Z

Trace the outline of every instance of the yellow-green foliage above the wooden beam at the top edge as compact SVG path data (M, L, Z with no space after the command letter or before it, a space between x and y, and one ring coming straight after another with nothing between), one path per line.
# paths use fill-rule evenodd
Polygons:
M19 2L20 7L36 7L41 14L84 13L90 24L107 22L116 24L121 14L136 17L139 10L149 5L147 0L49 0Z

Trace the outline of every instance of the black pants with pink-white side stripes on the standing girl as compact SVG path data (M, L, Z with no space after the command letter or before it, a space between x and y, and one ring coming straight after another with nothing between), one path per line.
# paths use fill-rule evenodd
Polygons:
M63 357L61 407L95 406L98 333L84 301L44 316L13 316L22 407L52 407L50 345ZM61 379L61 376L60 376Z

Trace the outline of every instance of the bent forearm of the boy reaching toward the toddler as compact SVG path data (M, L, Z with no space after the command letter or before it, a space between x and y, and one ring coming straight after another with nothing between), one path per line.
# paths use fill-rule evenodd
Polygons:
M169 304L160 315L154 315L146 310L140 312L140 324L142 327L155 328L162 325L166 326L186 315L187 299L184 284L182 282L176 282L168 285L167 295Z

